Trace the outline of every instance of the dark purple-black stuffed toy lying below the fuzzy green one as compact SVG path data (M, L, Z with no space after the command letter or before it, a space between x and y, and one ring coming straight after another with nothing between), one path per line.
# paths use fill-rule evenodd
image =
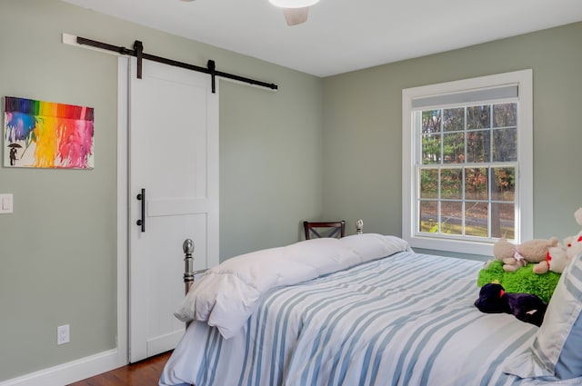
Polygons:
M480 312L510 313L522 322L540 326L544 322L547 303L531 293L508 293L501 284L490 283L481 287L475 306Z

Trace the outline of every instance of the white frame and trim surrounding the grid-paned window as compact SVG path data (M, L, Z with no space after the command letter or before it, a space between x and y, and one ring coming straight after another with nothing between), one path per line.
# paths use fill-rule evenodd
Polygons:
M402 90L402 238L413 248L492 255L497 239L459 240L447 235L426 235L416 231L416 155L421 151L420 134L413 126L413 101L418 98L466 93L517 85L517 184L515 242L533 238L533 80L532 70L493 74L471 79L429 84ZM487 101L483 101L487 102Z

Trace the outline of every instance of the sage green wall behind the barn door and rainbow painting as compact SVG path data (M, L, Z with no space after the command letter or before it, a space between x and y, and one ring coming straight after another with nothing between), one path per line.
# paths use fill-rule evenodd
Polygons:
M321 210L320 78L56 0L2 0L0 96L95 107L95 169L0 166L15 200L0 214L0 382L115 348L117 59L63 33L141 40L148 54L279 85L219 84L221 259L296 242ZM57 346L65 323L71 342Z

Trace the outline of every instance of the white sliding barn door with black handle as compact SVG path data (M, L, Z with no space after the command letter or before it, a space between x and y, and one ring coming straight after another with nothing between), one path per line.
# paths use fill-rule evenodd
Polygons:
M208 74L144 60L129 74L129 360L174 349L186 238L218 257L218 96ZM138 195L139 198L138 199ZM141 225L138 225L138 222Z

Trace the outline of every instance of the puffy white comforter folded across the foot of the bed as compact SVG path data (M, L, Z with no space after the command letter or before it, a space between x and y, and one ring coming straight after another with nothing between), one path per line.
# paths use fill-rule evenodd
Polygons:
M407 243L397 237L366 233L246 253L208 270L194 282L175 315L183 322L216 326L228 339L241 330L266 292L407 249Z

